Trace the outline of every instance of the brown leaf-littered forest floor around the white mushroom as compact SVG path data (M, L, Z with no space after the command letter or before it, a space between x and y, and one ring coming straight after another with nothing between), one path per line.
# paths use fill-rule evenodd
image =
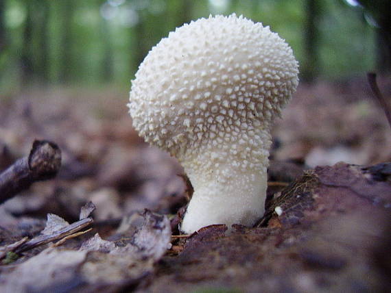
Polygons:
M390 100L390 79L379 88ZM391 165L380 163L391 162L391 130L371 94L359 77L300 85L273 130L265 217L190 236L176 225L188 201L183 170L137 136L126 92L2 97L0 172L34 140L56 142L62 164L0 205L1 288L381 292L391 273Z

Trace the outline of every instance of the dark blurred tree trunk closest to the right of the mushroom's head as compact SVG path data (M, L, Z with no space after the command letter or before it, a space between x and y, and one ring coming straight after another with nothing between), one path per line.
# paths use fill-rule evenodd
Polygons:
M302 76L305 81L313 81L319 73L318 62L318 20L320 18L320 1L305 0L304 49L305 64Z

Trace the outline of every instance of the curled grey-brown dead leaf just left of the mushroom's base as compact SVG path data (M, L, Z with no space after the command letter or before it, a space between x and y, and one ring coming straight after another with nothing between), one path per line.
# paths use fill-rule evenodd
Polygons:
M146 210L141 217L143 224L130 238L119 238L122 246L99 235L84 243L81 249L91 251L80 268L84 279L89 283L119 283L153 271L154 263L169 248L171 227L166 216Z

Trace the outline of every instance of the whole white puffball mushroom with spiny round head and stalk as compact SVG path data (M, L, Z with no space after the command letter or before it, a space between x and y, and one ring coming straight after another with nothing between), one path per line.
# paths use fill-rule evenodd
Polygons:
M270 125L297 85L288 44L235 14L185 24L148 53L128 106L140 136L176 157L193 185L182 231L261 218Z

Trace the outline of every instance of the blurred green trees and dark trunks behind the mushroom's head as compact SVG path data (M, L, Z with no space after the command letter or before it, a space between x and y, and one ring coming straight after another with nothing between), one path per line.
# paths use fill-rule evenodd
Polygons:
M302 80L389 71L390 47L379 46L379 13L389 6L387 0L0 0L0 93L29 86L129 90L147 52L169 31L233 12L285 38Z

